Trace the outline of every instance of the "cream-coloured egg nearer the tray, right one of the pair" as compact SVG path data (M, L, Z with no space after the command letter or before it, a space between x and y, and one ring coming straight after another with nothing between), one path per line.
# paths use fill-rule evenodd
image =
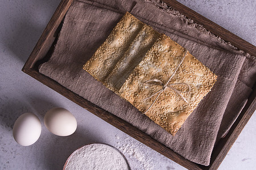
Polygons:
M52 108L44 116L44 125L51 133L68 136L76 131L76 118L64 108Z

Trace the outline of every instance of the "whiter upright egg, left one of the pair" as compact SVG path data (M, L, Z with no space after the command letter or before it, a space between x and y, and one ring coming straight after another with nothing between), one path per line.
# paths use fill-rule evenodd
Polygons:
M29 146L38 141L41 131L39 118L33 113L24 113L14 123L13 137L19 145Z

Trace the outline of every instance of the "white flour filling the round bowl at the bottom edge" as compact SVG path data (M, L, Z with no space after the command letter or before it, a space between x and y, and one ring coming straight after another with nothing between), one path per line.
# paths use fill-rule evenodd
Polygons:
M64 167L72 169L129 169L125 158L112 146L94 143L71 154Z

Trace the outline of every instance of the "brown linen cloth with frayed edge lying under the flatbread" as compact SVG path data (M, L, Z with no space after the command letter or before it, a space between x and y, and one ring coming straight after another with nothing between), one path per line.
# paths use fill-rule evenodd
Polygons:
M82 70L82 65L106 40L126 11L170 36L218 75L212 91L175 137ZM202 33L154 3L81 0L74 1L69 8L54 52L49 61L40 66L39 72L129 122L184 158L209 165L214 144L228 131L250 95L255 81L255 65L255 59L244 56L210 34Z

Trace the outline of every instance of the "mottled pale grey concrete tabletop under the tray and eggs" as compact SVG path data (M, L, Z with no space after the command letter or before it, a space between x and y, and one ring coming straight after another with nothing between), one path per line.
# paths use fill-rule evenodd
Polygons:
M21 71L59 2L0 1L0 169L61 169L72 151L94 142L119 148L133 169L184 169ZM256 45L254 0L179 2ZM46 129L43 116L52 107L75 115L75 134L57 137ZM28 147L12 135L16 118L25 112L42 122L39 140ZM254 113L219 169L255 169L255 129Z

